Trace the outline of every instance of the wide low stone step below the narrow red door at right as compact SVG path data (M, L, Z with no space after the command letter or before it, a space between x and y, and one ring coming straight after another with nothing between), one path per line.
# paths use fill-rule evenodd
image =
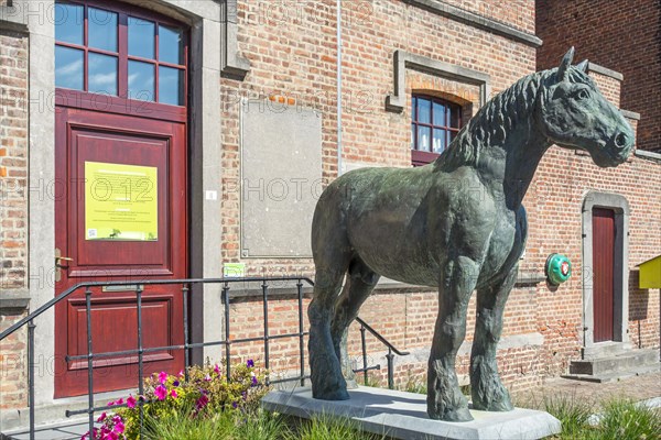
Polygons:
M659 350L631 350L617 355L572 361L570 375L604 375L659 364Z

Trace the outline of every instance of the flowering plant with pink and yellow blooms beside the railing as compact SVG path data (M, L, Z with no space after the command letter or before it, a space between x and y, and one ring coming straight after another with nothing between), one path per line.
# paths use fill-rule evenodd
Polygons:
M187 413L189 417L208 417L219 411L256 411L269 391L267 372L256 369L249 359L234 366L229 381L219 365L191 366L188 378L183 371L176 375L154 373L144 380L144 395L130 395L109 406L122 406L112 416L106 413L97 419L99 428L87 432L82 440L119 440L140 438L140 407L143 420L159 419ZM124 406L126 405L126 406Z

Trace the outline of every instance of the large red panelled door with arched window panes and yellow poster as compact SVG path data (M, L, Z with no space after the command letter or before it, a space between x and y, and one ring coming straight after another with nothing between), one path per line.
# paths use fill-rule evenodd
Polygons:
M187 275L186 30L118 2L55 4L56 295L93 288L93 352L138 348L136 287ZM183 299L145 286L143 345L183 343ZM84 289L55 309L55 397L86 394ZM181 350L144 354L178 372ZM138 385L134 353L94 361L95 393Z

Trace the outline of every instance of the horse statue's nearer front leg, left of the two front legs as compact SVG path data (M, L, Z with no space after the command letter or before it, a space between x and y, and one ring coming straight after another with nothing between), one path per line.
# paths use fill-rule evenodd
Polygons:
M427 371L427 414L432 419L473 420L459 389L455 361L466 337L466 311L478 270L473 260L458 257L447 262L438 283L438 317Z

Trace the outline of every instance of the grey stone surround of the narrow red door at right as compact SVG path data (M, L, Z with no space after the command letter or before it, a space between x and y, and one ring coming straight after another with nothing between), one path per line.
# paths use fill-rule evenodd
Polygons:
M614 341L594 341L593 208L615 212ZM629 202L617 194L589 191L583 200L583 356L629 348Z

